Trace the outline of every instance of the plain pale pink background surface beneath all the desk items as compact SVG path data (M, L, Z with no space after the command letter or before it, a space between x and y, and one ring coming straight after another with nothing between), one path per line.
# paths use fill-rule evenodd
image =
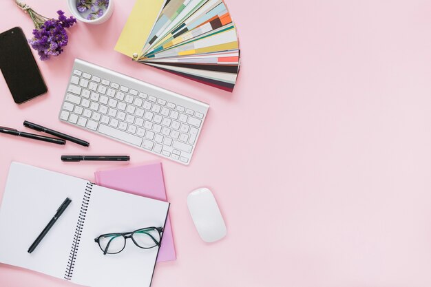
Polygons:
M28 16L2 2L0 30L20 25L30 37ZM67 11L66 1L27 2L45 15ZM65 54L38 61L45 96L15 105L0 77L1 125L31 120L92 143L0 135L0 195L12 160L90 180L120 164L60 156L158 160L59 123L79 57L211 105L191 165L162 160L178 259L158 264L154 287L431 286L430 1L228 0L242 48L233 94L114 52L133 3L116 1L103 25L78 23ZM215 244L200 240L187 210L201 186L227 223ZM0 286L54 285L72 286L0 264Z

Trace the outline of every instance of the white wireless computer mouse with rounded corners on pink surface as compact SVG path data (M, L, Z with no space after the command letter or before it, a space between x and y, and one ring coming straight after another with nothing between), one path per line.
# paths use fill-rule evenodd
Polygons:
M187 196L187 206L200 238L215 242L226 235L226 225L213 193L206 187L196 189Z

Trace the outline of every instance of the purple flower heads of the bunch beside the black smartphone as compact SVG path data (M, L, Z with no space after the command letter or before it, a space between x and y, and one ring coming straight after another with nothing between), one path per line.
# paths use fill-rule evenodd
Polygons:
M59 19L46 19L39 28L36 25L33 38L29 40L42 61L50 59L51 56L59 56L63 52L69 40L65 28L70 28L76 23L74 17L65 17L61 10L57 11L57 14Z

